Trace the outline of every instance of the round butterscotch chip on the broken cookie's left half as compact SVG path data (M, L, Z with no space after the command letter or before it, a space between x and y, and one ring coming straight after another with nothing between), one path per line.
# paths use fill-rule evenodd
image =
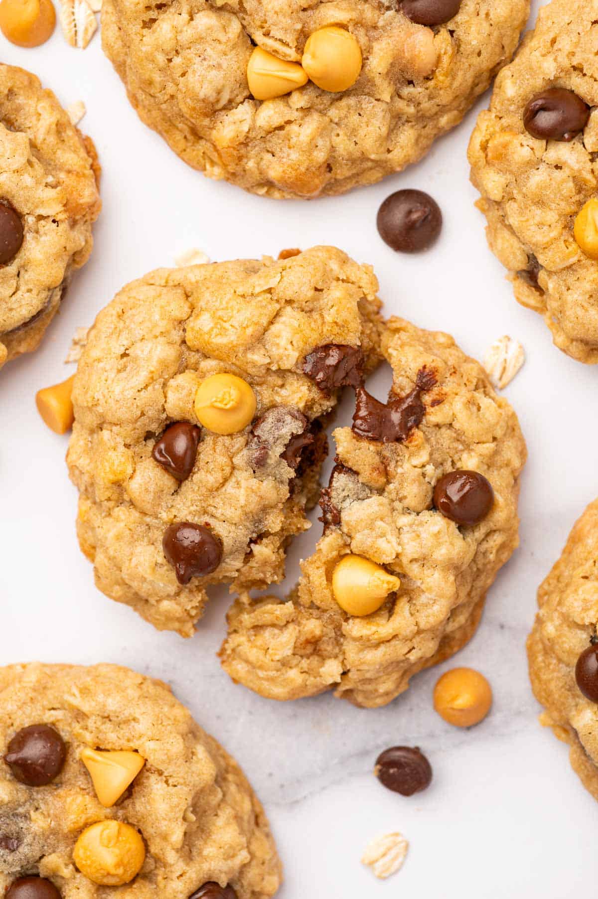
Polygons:
M201 381L193 408L204 428L234 434L251 422L256 405L254 391L243 378L222 373Z

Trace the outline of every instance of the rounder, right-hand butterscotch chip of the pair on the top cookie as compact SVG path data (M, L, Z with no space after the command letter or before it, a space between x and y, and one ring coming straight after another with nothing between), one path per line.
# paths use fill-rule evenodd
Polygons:
M346 91L361 73L361 48L351 31L331 25L310 34L301 65L323 91Z

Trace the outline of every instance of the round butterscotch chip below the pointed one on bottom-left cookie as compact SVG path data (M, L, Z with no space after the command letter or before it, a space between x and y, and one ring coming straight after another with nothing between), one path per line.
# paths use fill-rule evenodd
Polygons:
M76 867L99 886L128 884L141 870L146 847L138 832L121 821L98 821L79 835Z

